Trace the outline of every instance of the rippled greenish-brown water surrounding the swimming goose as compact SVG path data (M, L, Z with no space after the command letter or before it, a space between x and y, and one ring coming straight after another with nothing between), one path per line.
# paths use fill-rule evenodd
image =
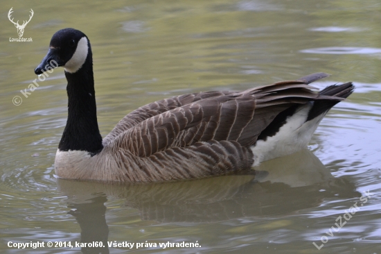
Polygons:
M81 239L135 244L110 253L381 252L378 1L84 3L2 5L1 253L80 253L7 245ZM6 19L11 7L20 20L33 8L24 32L33 42L8 40L18 37ZM316 87L353 81L357 88L321 122L308 149L261 164L256 176L152 185L57 180L66 80L62 68L45 80L33 69L65 27L91 40L103 136L127 112L177 94L245 90L319 71L332 76ZM20 90L33 81L39 87L26 98ZM159 248L183 241L200 246Z

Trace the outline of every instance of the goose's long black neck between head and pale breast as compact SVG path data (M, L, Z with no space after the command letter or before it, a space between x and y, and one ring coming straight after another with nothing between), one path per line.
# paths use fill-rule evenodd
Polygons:
M65 71L67 78L68 117L58 149L88 151L92 155L103 149L96 118L93 58L91 48L85 63L75 73Z

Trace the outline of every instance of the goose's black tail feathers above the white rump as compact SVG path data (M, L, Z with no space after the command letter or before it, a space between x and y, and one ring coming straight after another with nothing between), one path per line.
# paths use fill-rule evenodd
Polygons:
M324 90L321 90L319 94L323 95L324 99L319 99L318 97L317 100L314 101L314 105L308 113L307 121L328 112L334 105L350 96L353 90L355 90L355 86L352 82L342 85L330 85L329 87L324 88Z

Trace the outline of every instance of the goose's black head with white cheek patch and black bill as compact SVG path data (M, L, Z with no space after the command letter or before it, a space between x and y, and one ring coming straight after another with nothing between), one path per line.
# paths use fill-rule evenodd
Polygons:
M39 75L60 66L73 74L81 69L87 58L92 56L90 42L85 33L73 28L64 28L51 38L48 53L35 69L35 74Z

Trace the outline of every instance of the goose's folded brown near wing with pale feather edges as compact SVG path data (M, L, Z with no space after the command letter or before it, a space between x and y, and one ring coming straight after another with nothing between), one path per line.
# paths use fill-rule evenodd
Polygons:
M112 146L139 157L209 140L250 146L280 112L316 99L319 94L310 88L305 81L284 81L200 99L141 121L118 135Z

